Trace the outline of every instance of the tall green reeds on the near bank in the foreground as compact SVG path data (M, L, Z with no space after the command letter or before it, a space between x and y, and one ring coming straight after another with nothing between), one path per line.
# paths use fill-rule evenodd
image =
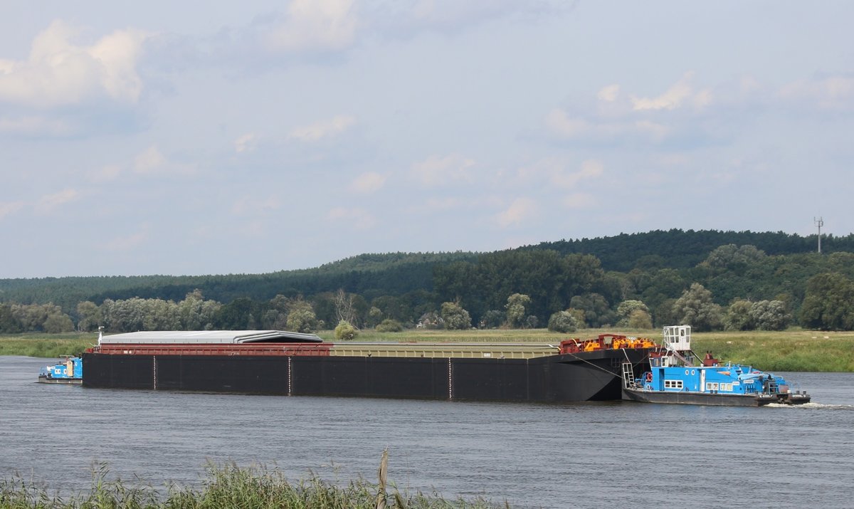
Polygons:
M383 460L385 456L383 453ZM387 493L384 470L380 483L363 478L337 486L312 474L292 483L278 469L266 466L208 465L200 488L167 485L165 493L150 485L128 486L120 479L108 481L104 465L92 474L88 492L67 499L20 476L0 481L0 507L9 509L433 509L496 507L488 500L445 500L441 495L409 494L392 487ZM509 507L506 503L504 507Z

